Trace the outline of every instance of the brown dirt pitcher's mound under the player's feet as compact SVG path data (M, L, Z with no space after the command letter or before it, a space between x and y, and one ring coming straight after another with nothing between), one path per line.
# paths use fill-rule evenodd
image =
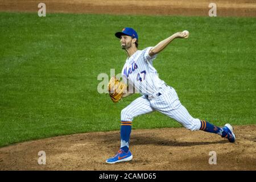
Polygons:
M255 170L256 125L234 126L236 143L184 128L133 130L131 162L106 164L119 148L119 131L75 134L0 148L0 170ZM46 164L39 165L39 151ZM210 151L217 164L209 164Z

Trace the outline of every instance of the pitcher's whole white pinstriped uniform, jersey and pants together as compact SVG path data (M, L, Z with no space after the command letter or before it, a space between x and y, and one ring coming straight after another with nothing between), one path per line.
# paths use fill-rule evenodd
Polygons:
M158 73L152 65L156 55L152 57L148 55L151 48L147 47L142 51L136 51L127 58L122 69L123 81L127 80L129 87L134 85L135 89L144 96L137 98L121 111L121 121L133 121L134 117L138 115L156 110L175 119L187 129L199 130L201 127L200 119L193 118L187 109L181 105L175 89L167 86L158 77ZM157 93L160 95L156 95ZM150 95L154 97L149 97ZM128 146L128 144L121 140L121 147L123 146Z

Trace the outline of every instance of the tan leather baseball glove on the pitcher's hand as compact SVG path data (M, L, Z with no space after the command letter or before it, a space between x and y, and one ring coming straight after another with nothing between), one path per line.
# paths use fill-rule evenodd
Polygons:
M127 88L127 86L119 81L115 76L110 78L109 84L109 96L111 100L115 103L121 100L123 92Z

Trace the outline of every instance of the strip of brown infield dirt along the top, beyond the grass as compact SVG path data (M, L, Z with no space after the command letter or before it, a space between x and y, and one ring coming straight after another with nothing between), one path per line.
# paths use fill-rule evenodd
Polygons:
M36 0L3 0L0 11L37 12ZM197 15L208 16L209 0L45 0L47 13ZM216 0L217 16L256 16L255 0Z

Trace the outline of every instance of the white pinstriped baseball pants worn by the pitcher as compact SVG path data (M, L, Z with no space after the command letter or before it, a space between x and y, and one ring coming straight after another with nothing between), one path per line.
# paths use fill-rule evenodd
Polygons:
M121 121L133 121L138 115L159 111L170 118L175 119L189 130L199 130L201 127L200 119L193 118L187 109L181 105L179 97L174 88L166 86L159 91L160 96L148 100L146 96L141 96L131 102L130 105L121 111Z

